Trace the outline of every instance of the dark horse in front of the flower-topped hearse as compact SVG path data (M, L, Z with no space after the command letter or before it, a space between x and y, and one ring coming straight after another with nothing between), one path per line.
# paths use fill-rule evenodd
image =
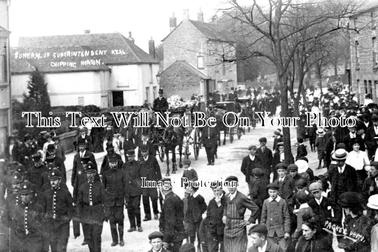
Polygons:
M172 173L176 173L177 164L176 164L176 146L178 145L178 151L180 155L180 162L179 166L182 168L182 145L184 140L184 129L182 127L175 127L173 128L170 125L168 128L164 129L163 131L163 143L165 149L165 156L167 159L167 173L166 176L170 175L170 168L169 168L169 151L172 152Z

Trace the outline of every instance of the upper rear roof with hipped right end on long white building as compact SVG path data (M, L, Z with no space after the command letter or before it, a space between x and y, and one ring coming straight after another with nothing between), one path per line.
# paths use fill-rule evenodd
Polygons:
M20 37L18 40L18 47L40 48L56 46L86 46L93 50L107 50L109 53L103 55L105 56L103 60L107 65L159 63L120 33ZM117 51L113 50L122 51L117 53Z

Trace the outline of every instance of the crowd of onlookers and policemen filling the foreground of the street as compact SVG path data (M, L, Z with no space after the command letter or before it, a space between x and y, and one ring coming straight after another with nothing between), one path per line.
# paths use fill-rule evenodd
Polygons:
M279 104L279 94L248 91L240 96ZM166 106L162 97L158 99ZM218 97L213 94L211 99ZM201 178L191 162L184 160L183 199L173 192L171 179L162 177L151 139L143 135L136 141L130 127L122 130L121 145L109 138L100 169L87 130L79 130L72 194L67 186L65 151L53 130L41 132L38 140L30 135L22 140L15 137L9 155L0 160L0 251L67 251L71 220L75 237L82 227L82 245L90 252L101 251L104 221L110 224L110 245L124 246L126 208L127 232L143 232L142 221L159 220L158 231L148 235L153 252L332 252L335 246L344 251L377 252L378 105L369 97L367 104L359 105L353 94L338 89L330 90L323 99L307 97L307 101L301 113L318 109L328 118L354 117L357 124L347 128L313 124L297 135L295 157L285 156L278 129L273 149L267 147L266 137L259 138L259 146L248 146L248 155L240 161L244 177L229 176L224 186L215 181L211 188L197 186L194 182ZM274 115L275 108L270 105L264 110ZM118 134L114 137L118 139ZM314 160L309 153L315 151L319 163L310 167ZM208 159L208 165L213 162ZM325 171L315 176L316 169L317 173ZM146 181L156 186L145 186ZM238 190L244 182L247 195ZM208 202L200 194L206 189L214 196ZM246 219L247 209L251 214Z

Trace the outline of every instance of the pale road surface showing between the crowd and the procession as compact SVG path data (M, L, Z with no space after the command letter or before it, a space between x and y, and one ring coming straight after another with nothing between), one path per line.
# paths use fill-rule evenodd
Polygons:
M277 111L278 115L279 111ZM248 194L248 186L244 182L244 175L241 173L241 161L242 158L246 155L248 155L247 147L251 144L255 144L258 146L258 139L262 136L265 136L268 139L267 147L269 149L272 149L273 147L273 131L276 130L276 127L273 127L272 125L266 124L264 127L261 127L260 124L257 125L256 129L251 129L250 132L248 130L245 131L245 134L241 136L241 139L237 139L237 137L234 137L234 142L231 144L228 137L226 138L226 145L219 146L218 147L218 158L215 159L215 165L214 166L207 166L207 160L206 160L206 152L205 149L200 149L199 152L199 159L195 160L194 155L190 155L189 159L191 160L191 166L197 171L199 180L202 181L224 181L224 179L229 175L235 175L240 179L240 184L238 190L241 191L244 194ZM296 130L295 128L291 128L291 141L292 144L296 142ZM323 174L326 172L326 169L316 169L318 166L318 159L317 159L317 153L316 152L310 152L309 150L309 143L308 141L305 142L305 145L307 145L308 150L308 159L309 159L309 166L313 169L314 174ZM190 152L193 153L192 148L190 147ZM292 148L293 156L296 155L296 148ZM71 169L72 169L72 163L73 163L73 156L75 153L69 153L66 155L66 161L65 165L67 168L67 181L70 181L71 177ZM95 153L95 158L98 164L98 167L101 167L103 156L105 155L105 152L101 153ZM178 159L178 155L176 155L176 159ZM167 165L166 163L160 162L158 159L161 173L164 176L166 173ZM178 161L177 161L178 162ZM172 170L172 162L170 164L171 170ZM173 184L173 192L176 193L179 197L184 197L184 188L181 186L181 176L183 173L183 169L178 168L178 171L176 174L171 173L171 179ZM72 187L70 183L67 183L69 186L69 190L72 192ZM224 188L225 189L225 188ZM226 190L226 189L225 189ZM213 194L211 191L211 188L209 187L201 187L199 189L199 193L205 198L206 203L208 203L212 198ZM141 218L144 218L144 212L143 212L143 204L140 203L140 209L141 209ZM249 210L245 213L245 218L248 218L250 215ZM112 238L110 234L110 226L109 223L104 222L103 225L103 234L102 234L102 251L103 252L145 252L151 249L151 245L149 244L148 235L154 231L158 231L158 220L150 220L143 222L142 221L142 228L143 232L132 232L128 233L127 229L129 229L129 221L127 218L127 211L125 209L124 211L124 241L125 246L120 247L119 245L115 247L111 247L110 244L112 243ZM249 229L247 227L247 229ZM87 246L81 246L81 243L83 242L83 234L79 236L78 238L74 238L72 234L72 228L70 229L70 238L69 238L69 245L68 245L68 251L72 252L81 252L81 251L88 251ZM251 246L251 243L249 241L248 247ZM334 247L337 249L337 242L334 242Z

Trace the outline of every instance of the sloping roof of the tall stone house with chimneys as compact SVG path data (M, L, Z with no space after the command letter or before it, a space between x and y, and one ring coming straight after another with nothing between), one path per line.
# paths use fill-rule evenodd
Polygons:
M195 28L198 29L204 36L211 40L218 40L218 41L231 41L225 34L227 32L220 26L212 23L204 23L200 21L190 20L189 22L194 25ZM182 21L169 33L165 38L162 39L164 41L167 37L169 37L176 29L182 24Z

